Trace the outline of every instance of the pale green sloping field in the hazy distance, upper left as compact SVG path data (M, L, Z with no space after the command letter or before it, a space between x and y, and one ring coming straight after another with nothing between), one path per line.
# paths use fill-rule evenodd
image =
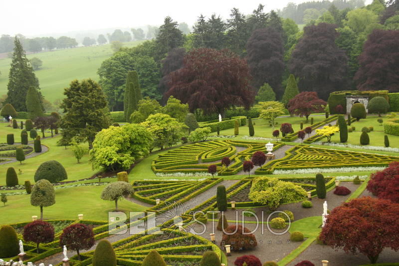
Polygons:
M141 41L125 42L125 47L133 47ZM39 79L41 93L53 103L63 98L63 89L74 79L92 78L98 80L97 70L101 63L113 54L110 44L77 47L27 55L43 61L42 68L35 71ZM0 59L0 95L7 94L8 72L11 59Z

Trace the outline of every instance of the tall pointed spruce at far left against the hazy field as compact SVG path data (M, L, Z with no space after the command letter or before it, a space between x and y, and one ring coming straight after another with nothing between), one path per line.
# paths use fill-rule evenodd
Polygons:
M8 74L6 102L12 104L16 110L26 112L25 99L27 91L31 86L39 89L39 81L17 37L15 37L14 44L15 47Z

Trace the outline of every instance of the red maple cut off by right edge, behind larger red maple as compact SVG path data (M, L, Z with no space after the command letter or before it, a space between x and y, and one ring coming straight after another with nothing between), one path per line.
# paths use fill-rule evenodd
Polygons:
M380 199L399 203L399 162L371 175L367 190Z

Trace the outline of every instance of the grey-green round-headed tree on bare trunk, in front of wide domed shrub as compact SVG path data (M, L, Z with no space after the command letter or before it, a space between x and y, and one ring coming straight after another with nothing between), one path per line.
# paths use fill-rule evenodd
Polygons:
M51 206L55 203L55 191L53 185L46 179L36 182L30 194L30 204L40 207L40 220L43 220L43 207Z

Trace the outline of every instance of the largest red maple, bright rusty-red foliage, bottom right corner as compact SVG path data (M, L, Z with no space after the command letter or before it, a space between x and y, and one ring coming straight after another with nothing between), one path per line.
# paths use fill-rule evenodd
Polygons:
M335 208L320 240L334 249L361 253L376 263L384 248L399 250L399 204L362 197Z

